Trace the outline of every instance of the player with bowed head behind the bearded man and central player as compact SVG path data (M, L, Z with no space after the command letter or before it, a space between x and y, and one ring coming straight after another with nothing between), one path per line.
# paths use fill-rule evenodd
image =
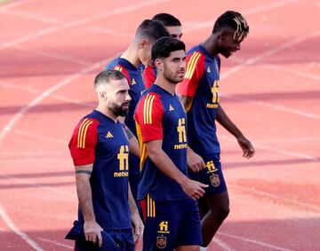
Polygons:
M145 84L140 73L140 64L144 64L145 66L150 64L152 45L159 37L168 35L169 33L161 22L156 20L142 21L127 50L106 67L107 69L113 68L122 72L129 82L129 93L132 101L130 102L129 113L126 115L124 123L132 131L135 137L137 137L137 132L133 113L135 106L139 101L141 92L145 90ZM140 179L140 159L130 153L129 162L129 181L132 188L132 195L136 199L138 182Z

